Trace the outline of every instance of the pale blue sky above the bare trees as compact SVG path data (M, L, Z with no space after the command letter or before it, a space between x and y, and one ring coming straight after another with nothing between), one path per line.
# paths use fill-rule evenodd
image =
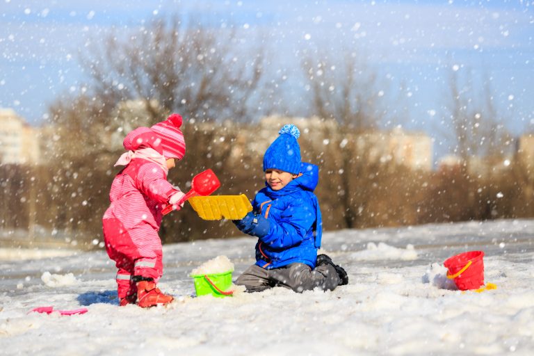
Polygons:
M83 85L76 53L87 38L175 12L268 33L273 64L288 80L296 80L291 72L303 48L357 50L393 88L387 90L407 86L409 129L438 131L455 67L491 80L512 133L534 131L534 4L519 0L0 0L0 107L40 123L54 98Z

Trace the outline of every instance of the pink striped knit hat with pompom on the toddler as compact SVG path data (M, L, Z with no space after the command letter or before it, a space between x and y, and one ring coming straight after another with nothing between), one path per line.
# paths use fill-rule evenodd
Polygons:
M161 138L163 156L168 159L182 159L186 154L186 141L184 133L181 133L181 116L170 115L167 120L159 122L150 129L155 131Z

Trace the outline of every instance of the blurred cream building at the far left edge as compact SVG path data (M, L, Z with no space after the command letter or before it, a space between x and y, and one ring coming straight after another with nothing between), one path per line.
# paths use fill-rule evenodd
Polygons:
M0 163L36 164L40 161L39 130L13 109L0 108Z

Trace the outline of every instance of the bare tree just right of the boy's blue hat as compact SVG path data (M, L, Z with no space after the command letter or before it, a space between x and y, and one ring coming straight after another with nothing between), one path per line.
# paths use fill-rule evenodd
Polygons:
M339 131L327 133L330 145L324 156L328 159L321 168L331 172L328 180L337 188L334 198L343 214L343 227L356 227L371 199L369 184L375 181L368 178L374 177L375 168L367 149L359 149L355 138L376 129L384 116L378 75L355 53L338 58L308 54L302 70L310 92L309 111L339 124Z

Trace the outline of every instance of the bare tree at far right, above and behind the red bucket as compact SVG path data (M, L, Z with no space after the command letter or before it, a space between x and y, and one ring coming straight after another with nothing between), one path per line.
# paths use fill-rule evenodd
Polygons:
M462 80L460 74L465 76ZM483 76L477 87L471 72L453 68L448 79L448 115L445 123L453 153L460 158L458 168L437 176L432 189L433 218L444 221L496 218L495 194L505 156L513 140L506 131L495 105L491 78ZM497 190L494 192L494 190Z

